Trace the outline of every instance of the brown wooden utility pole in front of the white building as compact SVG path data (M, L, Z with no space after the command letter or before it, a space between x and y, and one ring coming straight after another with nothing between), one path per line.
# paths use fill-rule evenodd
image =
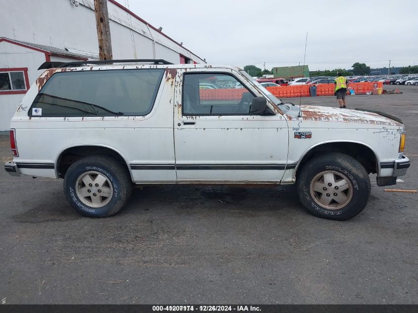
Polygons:
M110 38L110 25L109 15L107 13L107 0L94 0L94 13L96 16L99 58L100 60L112 60L112 41Z

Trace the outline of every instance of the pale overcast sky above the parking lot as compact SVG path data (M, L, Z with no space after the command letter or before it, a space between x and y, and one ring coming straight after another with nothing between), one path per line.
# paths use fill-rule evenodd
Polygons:
M118 0L211 64L418 64L417 0Z

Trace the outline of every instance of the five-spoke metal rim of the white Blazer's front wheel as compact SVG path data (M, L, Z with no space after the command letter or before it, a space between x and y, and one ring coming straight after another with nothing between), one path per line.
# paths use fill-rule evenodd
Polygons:
M325 171L315 176L311 181L310 191L315 202L329 210L345 207L353 197L350 180L335 171Z

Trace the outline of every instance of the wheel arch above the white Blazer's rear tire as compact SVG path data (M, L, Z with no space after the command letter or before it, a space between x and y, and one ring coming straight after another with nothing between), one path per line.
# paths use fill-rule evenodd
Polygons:
M58 157L55 161L56 177L63 178L68 167L75 161L83 157L96 154L111 156L118 160L121 164L126 166L132 181L134 181L129 162L126 160L125 156L117 149L101 144L75 144L63 149L58 154Z

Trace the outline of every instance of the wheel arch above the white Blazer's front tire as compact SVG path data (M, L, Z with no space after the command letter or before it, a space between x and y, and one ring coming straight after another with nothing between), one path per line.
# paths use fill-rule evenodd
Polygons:
M376 151L368 144L356 140L331 140L319 142L307 149L297 162L293 179L296 179L298 169L315 155L326 152L340 152L347 154L363 165L368 173L380 171L380 162Z

